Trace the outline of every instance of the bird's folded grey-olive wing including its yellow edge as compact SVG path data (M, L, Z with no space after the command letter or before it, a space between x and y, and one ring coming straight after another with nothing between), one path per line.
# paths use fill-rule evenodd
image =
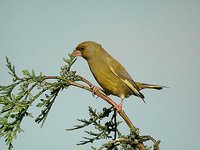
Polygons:
M109 67L111 72L116 75L122 82L124 82L134 92L135 95L144 99L144 95L139 92L139 88L121 64L115 62L109 64Z

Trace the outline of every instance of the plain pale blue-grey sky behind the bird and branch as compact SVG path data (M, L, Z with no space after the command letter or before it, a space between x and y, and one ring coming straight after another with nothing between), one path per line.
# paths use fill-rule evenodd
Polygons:
M134 96L124 101L124 111L141 134L161 140L161 150L199 150L199 8L199 0L0 0L0 84L11 83L6 56L19 74L34 69L59 75L63 57L80 42L96 41L135 81L170 87L144 90L146 104ZM73 70L97 84L82 58ZM88 106L101 110L108 105L76 87L62 91L43 128L24 119L25 132L13 150L90 149L92 144L76 145L85 136L83 130L65 131L76 119L88 117ZM122 131L128 133L125 124ZM2 138L0 149L7 149Z

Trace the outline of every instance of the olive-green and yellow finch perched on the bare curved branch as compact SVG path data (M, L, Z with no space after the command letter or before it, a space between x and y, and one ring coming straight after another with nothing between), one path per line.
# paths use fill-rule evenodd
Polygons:
M126 69L97 42L82 42L76 46L71 55L83 57L87 61L94 78L106 95L120 97L119 108L122 108L123 100L131 95L144 101L145 97L141 93L143 89L161 90L165 87L135 82Z

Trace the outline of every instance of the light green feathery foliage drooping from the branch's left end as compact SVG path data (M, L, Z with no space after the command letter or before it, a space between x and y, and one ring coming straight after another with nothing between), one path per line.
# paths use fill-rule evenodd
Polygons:
M36 75L34 70L23 70L23 77L16 74L15 66L11 64L6 57L6 66L12 77L12 83L9 85L0 85L0 137L5 138L8 149L12 149L13 140L17 133L23 132L21 123L24 117L33 118L29 112L29 107L33 102L41 98L36 107L41 109L41 114L35 119L35 122L45 123L48 113L53 105L58 93L69 86L64 80L78 81L79 76L70 71L72 64L76 59L70 57L64 59L66 65L61 68L61 76L54 77L53 82L48 82L48 77L42 73Z

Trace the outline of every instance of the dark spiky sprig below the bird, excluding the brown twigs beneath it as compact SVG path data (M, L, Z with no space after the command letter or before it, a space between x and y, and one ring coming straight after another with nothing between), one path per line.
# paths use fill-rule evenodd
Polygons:
M116 121L116 111L111 108L103 108L102 112L97 112L97 110L93 110L91 107L89 107L89 115L90 118L88 120L86 119L78 119L78 121L81 123L78 125L75 125L71 129L66 129L67 131L71 130L77 130L81 128L85 128L87 126L94 126L95 130L97 132L93 131L85 131L85 133L89 137L83 137L85 140L81 141L77 145L84 145L87 143L93 143L95 140L99 139L112 139L116 138L117 134L120 135L121 133L117 129L117 126L121 122ZM111 113L114 111L112 117L110 117ZM106 120L109 118L108 120ZM106 121L105 121L106 120Z

